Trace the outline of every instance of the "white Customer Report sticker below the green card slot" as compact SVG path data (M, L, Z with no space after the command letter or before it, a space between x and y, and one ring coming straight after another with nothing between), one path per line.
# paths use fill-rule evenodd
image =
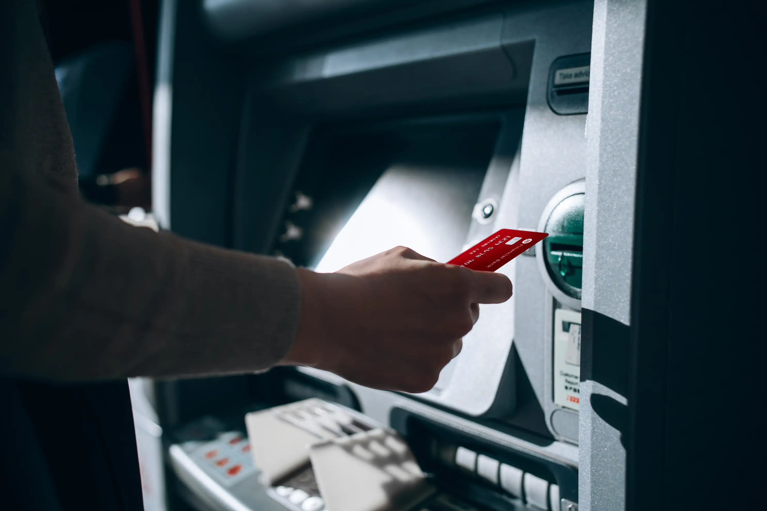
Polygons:
M554 402L578 411L581 403L581 313L554 313Z

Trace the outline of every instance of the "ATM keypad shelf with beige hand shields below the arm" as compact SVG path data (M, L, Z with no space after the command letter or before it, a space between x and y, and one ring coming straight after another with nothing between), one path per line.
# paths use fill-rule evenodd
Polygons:
M204 422L192 426L210 430ZM179 441L170 463L186 503L201 511L560 509L548 503L560 501L557 481L568 480L561 468L439 424L433 431L407 423L405 436L310 398L249 412L245 427L219 424Z

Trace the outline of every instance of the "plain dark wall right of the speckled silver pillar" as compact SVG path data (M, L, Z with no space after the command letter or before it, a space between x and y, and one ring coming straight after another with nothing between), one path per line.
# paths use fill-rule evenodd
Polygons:
M648 0L637 167L628 509L754 503L760 403L755 2ZM763 201L763 199L762 199ZM759 339L759 340L757 340ZM759 405L757 405L759 406ZM703 495L705 495L703 497Z

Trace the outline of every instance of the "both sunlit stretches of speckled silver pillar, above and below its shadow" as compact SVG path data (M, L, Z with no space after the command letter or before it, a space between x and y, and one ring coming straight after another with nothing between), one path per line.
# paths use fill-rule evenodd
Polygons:
M624 325L630 320L645 11L644 0L594 4L582 306ZM626 452L621 432L592 408L595 395L627 405L604 385L581 382L579 507L618 511L625 508Z

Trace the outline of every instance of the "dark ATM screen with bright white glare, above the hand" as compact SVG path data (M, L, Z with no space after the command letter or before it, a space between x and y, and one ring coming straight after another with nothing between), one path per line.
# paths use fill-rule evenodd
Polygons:
M434 260L459 254L485 177L498 123L416 123L314 145L296 191L314 211L302 237L282 243L296 264L332 272L397 245ZM304 175L305 174L307 175Z

